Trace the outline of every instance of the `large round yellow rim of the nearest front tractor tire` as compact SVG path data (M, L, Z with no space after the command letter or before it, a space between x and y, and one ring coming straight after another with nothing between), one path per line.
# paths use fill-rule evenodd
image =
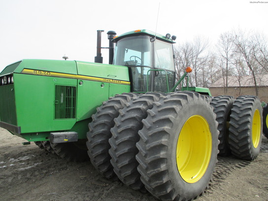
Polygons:
M212 137L204 117L191 116L183 125L176 147L180 176L195 183L204 175L211 157Z

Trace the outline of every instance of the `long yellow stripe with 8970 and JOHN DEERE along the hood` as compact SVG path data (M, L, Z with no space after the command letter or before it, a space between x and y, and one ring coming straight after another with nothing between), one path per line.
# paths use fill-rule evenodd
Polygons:
M101 77L91 77L91 76L86 76L86 75L73 75L73 74L67 74L67 73L61 73L61 72L33 70L33 69L27 69L27 68L24 68L21 73L48 76L48 77L64 77L64 78L72 78L72 79L90 80L90 81L96 81L96 82L130 85L130 82L122 81L122 80L114 80L114 79L101 78Z

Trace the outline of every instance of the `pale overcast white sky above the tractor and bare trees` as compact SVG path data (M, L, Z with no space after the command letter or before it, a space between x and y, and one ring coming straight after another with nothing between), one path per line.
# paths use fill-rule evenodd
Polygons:
M94 62L97 30L156 30L176 45L197 35L213 44L236 28L268 35L268 3L258 0L0 0L0 71L22 59ZM260 0L268 2L268 0ZM108 63L108 50L102 50Z

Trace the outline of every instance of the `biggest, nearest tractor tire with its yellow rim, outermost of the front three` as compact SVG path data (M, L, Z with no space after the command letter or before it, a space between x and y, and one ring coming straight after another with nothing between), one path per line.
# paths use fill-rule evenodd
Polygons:
M194 92L171 94L147 113L136 144L141 181L163 201L197 198L218 154L218 123L209 100Z

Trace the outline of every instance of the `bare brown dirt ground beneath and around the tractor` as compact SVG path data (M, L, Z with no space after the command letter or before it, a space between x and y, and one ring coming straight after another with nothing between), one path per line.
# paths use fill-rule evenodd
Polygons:
M157 201L102 177L90 162L66 162L0 128L0 201ZM218 157L196 201L268 201L268 139L253 162Z

